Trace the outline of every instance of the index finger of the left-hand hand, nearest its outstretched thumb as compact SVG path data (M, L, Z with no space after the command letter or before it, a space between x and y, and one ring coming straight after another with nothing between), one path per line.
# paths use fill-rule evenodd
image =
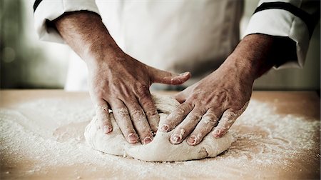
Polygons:
M159 123L159 114L149 91L145 91L144 94L141 94L141 96L138 97L138 101L146 114L149 126L151 126L152 131L156 133Z

